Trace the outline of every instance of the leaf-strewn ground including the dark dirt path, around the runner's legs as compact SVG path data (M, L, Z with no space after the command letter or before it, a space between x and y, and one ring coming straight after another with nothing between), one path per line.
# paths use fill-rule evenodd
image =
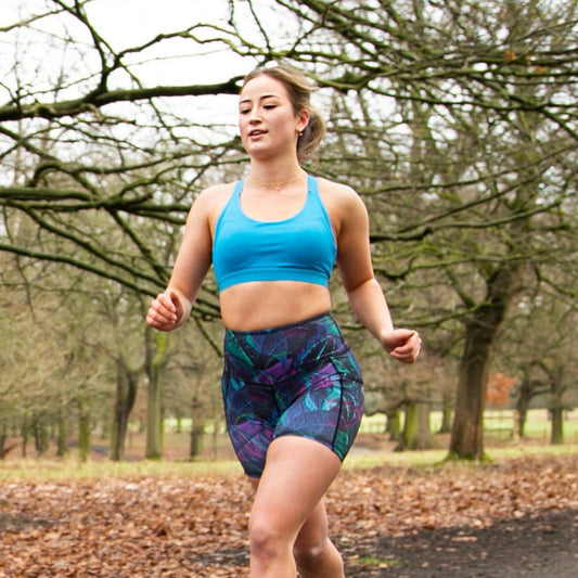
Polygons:
M248 576L241 473L166 472L30 479L0 468L0 577ZM571 453L345 467L326 503L348 578L578 576Z

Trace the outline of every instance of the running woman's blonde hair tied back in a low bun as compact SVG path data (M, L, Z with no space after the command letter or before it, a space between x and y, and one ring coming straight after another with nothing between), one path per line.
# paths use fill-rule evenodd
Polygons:
M325 136L325 121L319 111L311 104L311 93L317 90L317 87L300 70L293 68L293 66L277 64L274 66L262 66L253 69L243 79L242 88L249 80L261 75L270 76L285 87L296 115L303 111L309 113L309 123L297 139L297 158L299 162L306 160L313 154Z

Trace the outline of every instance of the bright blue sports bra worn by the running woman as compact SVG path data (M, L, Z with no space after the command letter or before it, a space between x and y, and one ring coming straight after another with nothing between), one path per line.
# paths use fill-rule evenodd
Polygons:
M259 221L243 213L243 182L235 184L215 228L213 266L219 291L249 281L327 286L337 245L317 179L307 176L304 207L280 221Z

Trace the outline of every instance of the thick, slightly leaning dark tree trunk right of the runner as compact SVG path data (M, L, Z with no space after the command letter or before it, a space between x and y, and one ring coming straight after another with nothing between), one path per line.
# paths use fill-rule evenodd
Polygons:
M449 457L484 459L484 409L493 345L522 271L504 264L487 282L487 295L465 326Z

